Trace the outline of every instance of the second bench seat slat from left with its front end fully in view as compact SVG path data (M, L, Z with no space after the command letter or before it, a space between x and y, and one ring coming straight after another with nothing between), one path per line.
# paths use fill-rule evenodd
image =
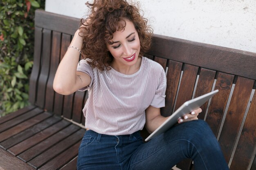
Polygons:
M47 150L55 144L58 144L58 142L65 139L67 136L73 134L79 129L79 126L70 125L55 133L51 137L43 140L39 144L36 144L35 146L29 148L25 152L22 152L20 155L18 155L18 158L22 159L25 162L28 162L37 155L40 155L43 151Z

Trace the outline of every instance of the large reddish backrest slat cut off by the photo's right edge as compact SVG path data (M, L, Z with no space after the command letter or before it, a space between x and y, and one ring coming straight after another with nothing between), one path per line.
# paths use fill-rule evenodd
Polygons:
M249 108L243 131L241 133L235 155L233 157L230 168L247 170L249 168L250 160L254 149L256 147L256 93L252 99L251 106ZM240 157L240 155L244 155Z

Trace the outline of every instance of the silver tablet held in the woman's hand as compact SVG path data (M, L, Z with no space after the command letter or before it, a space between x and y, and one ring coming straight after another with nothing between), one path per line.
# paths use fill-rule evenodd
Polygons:
M213 95L215 95L216 93L218 93L219 90L216 91L212 91L210 93L206 93L202 96L196 97L194 99L191 99L187 102L185 102L184 104L182 104L182 106L180 106L180 108L178 108L166 121L164 121L164 123L162 125L160 125L153 133L151 133L146 139L145 141L149 141L150 139L152 139L153 137L156 137L157 135L165 132L166 130L168 130L169 128L171 128L171 126L175 125L178 121L178 119L180 117L183 117L186 114L191 113L193 110L200 108L200 106L202 106L205 102L207 102L207 100L209 100L211 97L213 97Z

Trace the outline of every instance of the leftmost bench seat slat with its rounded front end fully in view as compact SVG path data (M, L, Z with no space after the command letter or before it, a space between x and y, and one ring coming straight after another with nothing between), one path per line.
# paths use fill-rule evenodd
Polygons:
M22 141L19 144L9 148L8 151L13 153L13 155L18 155L21 152L30 148L31 146L38 144L39 142L50 137L54 133L58 132L59 130L65 128L70 124L71 124L70 122L65 120L59 121L57 124L54 124L53 126L50 126L49 128L37 133L36 135L29 137L25 141Z

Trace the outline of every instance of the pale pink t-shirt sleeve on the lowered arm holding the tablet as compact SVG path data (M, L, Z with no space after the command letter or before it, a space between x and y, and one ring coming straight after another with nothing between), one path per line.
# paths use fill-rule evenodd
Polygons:
M161 71L161 75L159 77L159 83L157 86L157 90L155 91L155 96L151 102L151 106L155 108L162 108L165 106L165 91L166 91L166 74L164 69Z

